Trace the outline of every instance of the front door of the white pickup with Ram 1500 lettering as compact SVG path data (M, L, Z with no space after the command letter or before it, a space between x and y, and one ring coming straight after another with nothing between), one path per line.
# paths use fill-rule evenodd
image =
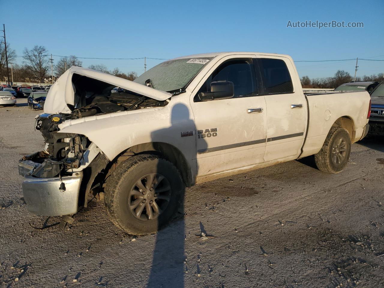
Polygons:
M198 176L225 173L264 161L266 103L258 93L254 55L247 56L223 58L192 95ZM197 94L210 91L210 83L215 81L233 82L233 98L199 101Z

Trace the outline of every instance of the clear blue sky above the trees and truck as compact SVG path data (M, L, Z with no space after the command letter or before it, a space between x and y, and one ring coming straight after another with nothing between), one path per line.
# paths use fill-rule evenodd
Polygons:
M8 1L0 24L22 63L24 48L91 58L163 58L217 51L282 53L295 61L384 60L384 1ZM15 7L22 7L17 9ZM17 12L16 12L17 11ZM364 28L293 28L291 23L363 22ZM54 61L60 57L53 56ZM81 59L83 66L144 72L144 59ZM147 68L164 60L147 60ZM356 60L296 62L299 76L354 75ZM384 61L359 61L357 76L384 72Z

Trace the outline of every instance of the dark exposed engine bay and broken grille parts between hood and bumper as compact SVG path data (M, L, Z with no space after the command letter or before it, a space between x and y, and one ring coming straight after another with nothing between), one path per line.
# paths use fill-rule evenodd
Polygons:
M35 129L45 139L45 150L24 156L19 169L39 178L61 177L84 164L83 155L91 142L80 134L58 133L59 125L70 119L114 113L119 111L162 107L169 100L158 101L104 81L74 73L72 76L74 105L67 104L71 113L40 114ZM104 156L105 157L105 156Z

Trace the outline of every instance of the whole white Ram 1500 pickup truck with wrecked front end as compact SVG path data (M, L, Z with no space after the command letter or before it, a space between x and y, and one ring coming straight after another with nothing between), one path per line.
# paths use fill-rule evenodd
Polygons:
M190 55L133 82L71 67L36 116L45 149L19 162L24 199L65 225L93 194L122 230L152 233L185 186L310 155L341 172L369 111L367 92L305 95L288 55Z

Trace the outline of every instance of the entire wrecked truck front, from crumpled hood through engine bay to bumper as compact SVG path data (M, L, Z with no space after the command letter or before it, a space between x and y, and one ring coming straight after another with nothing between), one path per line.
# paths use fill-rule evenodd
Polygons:
M115 87L121 89L112 92ZM36 130L43 134L45 149L19 161L28 211L46 216L72 215L86 207L90 192L102 192L109 159L86 136L67 133L66 127L76 125L81 118L93 121L105 118L103 114L113 117L137 109L162 109L171 96L86 68L73 66L63 73L46 96L44 114L36 116Z

